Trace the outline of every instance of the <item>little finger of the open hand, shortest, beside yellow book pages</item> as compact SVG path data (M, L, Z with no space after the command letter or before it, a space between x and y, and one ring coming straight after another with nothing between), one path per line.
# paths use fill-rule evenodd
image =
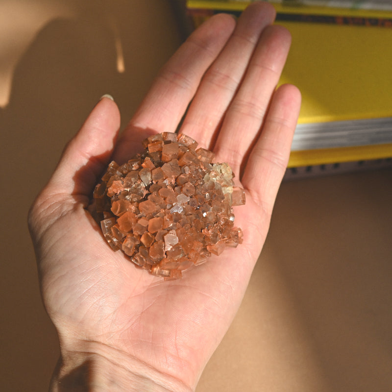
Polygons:
M246 163L242 184L269 217L286 171L300 105L301 95L295 86L283 85L276 90Z

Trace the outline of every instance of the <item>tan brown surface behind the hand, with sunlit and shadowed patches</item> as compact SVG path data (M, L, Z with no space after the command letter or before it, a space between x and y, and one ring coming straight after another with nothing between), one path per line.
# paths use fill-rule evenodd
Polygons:
M99 97L126 122L181 40L164 0L0 2L0 390L46 391L58 356L25 224L33 196ZM197 392L391 391L391 202L390 170L284 183Z

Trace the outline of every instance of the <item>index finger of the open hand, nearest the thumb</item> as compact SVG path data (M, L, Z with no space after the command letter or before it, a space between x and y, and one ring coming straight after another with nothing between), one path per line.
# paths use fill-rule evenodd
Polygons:
M116 160L129 158L149 134L176 130L200 79L220 53L234 26L235 21L229 15L216 15L196 29L175 52L124 130Z

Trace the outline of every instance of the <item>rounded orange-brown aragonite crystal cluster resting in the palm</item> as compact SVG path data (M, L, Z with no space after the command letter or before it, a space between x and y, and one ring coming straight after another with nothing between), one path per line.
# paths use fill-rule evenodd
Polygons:
M225 163L185 134L164 132L119 166L111 162L94 190L94 209L114 250L165 279L242 243L232 206L245 204Z

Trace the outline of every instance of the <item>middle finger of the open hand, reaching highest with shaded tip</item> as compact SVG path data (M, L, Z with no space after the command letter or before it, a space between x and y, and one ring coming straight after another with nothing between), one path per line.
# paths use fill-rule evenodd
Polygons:
M263 29L275 18L264 2L251 4L240 16L232 37L205 74L180 132L211 148L214 134L233 99Z

